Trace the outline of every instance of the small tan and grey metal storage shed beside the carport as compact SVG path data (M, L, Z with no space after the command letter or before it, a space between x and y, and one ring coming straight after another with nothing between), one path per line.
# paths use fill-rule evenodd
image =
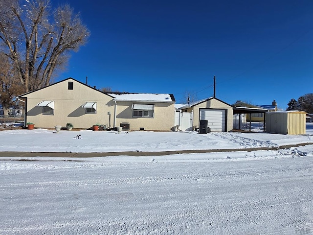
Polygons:
M306 133L306 112L277 111L266 115L266 132L300 135Z

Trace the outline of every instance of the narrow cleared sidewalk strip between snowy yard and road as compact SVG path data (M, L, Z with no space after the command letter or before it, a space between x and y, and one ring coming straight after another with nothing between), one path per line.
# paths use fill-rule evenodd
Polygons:
M215 152L252 152L258 150L278 150L288 149L291 147L299 147L311 145L313 143L298 143L291 145L282 145L279 147L260 147L260 148L237 148L237 149L203 149L203 150L173 150L160 152L104 152L104 153L71 153L71 152L0 152L0 157L61 157L61 158L96 158L109 156L165 156L174 154L188 154L188 153L215 153Z

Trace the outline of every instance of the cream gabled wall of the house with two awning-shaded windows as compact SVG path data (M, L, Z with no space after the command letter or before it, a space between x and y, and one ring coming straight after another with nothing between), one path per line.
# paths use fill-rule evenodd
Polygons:
M73 89L68 89L68 82L73 82ZM108 112L114 113L112 97L75 80L67 79L41 90L26 94L27 122L33 122L37 128L54 128L66 126L67 122L74 128L88 129L95 124L108 124ZM43 108L38 103L54 101L54 114L43 115ZM111 101L111 102L110 102ZM82 106L86 102L96 103L96 114L86 114Z

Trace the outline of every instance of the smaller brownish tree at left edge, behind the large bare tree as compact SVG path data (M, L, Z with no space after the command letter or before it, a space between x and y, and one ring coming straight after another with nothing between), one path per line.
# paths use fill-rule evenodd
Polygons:
M21 94L22 90L20 79L9 58L0 53L0 103L4 115L8 115L9 108L15 105L13 97Z

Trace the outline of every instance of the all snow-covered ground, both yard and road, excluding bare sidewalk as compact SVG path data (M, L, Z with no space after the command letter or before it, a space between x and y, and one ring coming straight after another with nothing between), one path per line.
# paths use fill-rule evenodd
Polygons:
M76 139L81 135L80 139ZM0 131L0 151L242 149L0 158L0 234L313 234L313 143L268 133Z

